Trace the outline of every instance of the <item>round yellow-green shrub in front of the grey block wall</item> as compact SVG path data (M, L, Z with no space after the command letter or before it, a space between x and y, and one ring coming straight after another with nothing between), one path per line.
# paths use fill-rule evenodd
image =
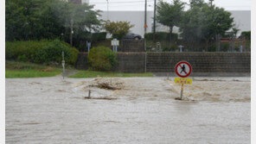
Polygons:
M108 47L93 47L88 53L90 69L96 71L109 71L117 63L116 54Z

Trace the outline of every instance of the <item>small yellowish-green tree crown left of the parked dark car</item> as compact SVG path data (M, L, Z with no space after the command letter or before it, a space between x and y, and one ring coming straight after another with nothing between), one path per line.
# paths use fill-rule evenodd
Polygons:
M105 29L106 32L112 34L112 38L117 38L118 40L122 40L125 34L128 34L130 28L134 27L130 22L110 22L106 21Z

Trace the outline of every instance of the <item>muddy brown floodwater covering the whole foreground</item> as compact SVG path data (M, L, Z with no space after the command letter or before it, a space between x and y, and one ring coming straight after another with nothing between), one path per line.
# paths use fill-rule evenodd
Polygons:
M250 78L193 78L187 101L173 81L7 78L6 143L250 143Z

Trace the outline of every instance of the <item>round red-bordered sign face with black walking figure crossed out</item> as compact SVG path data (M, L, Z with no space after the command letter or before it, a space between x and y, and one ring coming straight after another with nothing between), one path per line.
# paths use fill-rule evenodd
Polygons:
M190 73L192 72L192 67L190 66L189 62L180 61L177 63L175 71L179 77L186 78L189 77Z

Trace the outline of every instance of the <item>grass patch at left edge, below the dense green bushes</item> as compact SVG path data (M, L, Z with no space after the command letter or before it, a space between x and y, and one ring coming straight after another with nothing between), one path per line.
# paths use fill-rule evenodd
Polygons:
M29 62L5 62L5 78L53 77L60 73L61 69L52 66L37 65Z

